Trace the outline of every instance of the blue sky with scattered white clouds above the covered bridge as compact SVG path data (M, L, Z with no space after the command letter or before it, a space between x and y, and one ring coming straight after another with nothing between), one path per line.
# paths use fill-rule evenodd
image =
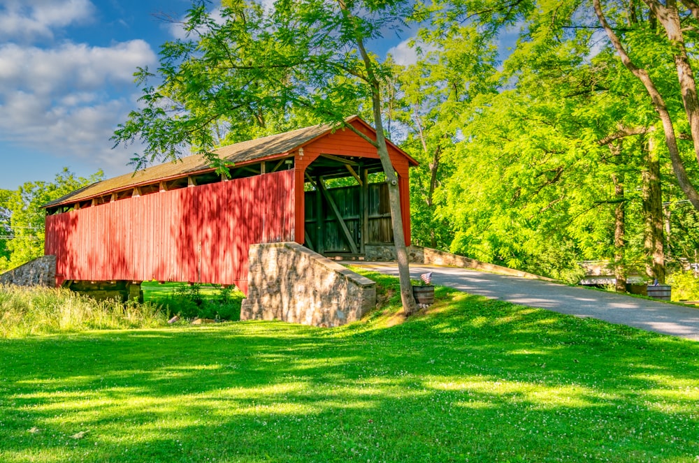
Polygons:
M159 46L177 34L155 15L180 18L190 5L0 0L0 189L50 181L63 167L84 177L129 172L134 147L112 149L109 138L136 108L136 67L157 66ZM407 39L374 51L412 61Z

